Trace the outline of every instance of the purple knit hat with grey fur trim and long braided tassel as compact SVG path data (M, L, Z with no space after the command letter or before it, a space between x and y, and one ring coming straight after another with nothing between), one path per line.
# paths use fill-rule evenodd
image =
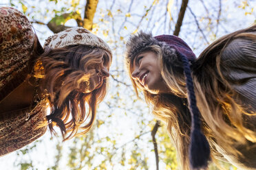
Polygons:
M191 62L195 60L195 54L178 36L160 35L153 37L151 33L138 32L132 35L127 42L126 62L127 66L143 51L151 49L152 45L161 48L163 62L172 63L171 58L177 57L182 61L184 76L186 77L186 90L188 93L189 110L191 113L191 134L189 146L189 161L191 169L206 169L210 159L210 147L201 130L200 111L196 105L193 79L191 76Z

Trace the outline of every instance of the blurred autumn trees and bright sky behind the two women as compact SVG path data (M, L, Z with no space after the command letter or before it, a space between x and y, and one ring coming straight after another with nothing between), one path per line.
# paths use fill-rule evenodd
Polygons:
M1 0L0 5L23 12L41 45L56 32L81 26L103 38L114 54L109 91L94 128L64 143L60 133L47 132L0 157L2 170L180 169L166 127L156 123L142 94L138 99L131 86L124 65L129 35L138 30L174 34L199 56L216 38L256 23L255 0ZM220 166L236 169L225 162Z

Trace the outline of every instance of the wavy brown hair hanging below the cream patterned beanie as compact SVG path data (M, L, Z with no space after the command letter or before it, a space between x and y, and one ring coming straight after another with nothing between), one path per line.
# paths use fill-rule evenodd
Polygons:
M50 106L47 115L50 132L60 128L63 140L87 133L96 117L96 107L106 95L108 80L86 93L102 65L103 56L111 54L98 47L72 45L58 49L45 48L34 66L34 77ZM87 104L88 107L85 105ZM88 110L87 110L88 108Z

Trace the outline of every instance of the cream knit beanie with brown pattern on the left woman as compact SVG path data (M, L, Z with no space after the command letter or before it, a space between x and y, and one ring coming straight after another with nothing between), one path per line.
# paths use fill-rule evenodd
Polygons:
M72 27L48 37L45 40L44 47L56 49L68 45L87 45L89 47L99 47L111 53L111 49L107 43L104 42L104 40L92 34L83 27Z

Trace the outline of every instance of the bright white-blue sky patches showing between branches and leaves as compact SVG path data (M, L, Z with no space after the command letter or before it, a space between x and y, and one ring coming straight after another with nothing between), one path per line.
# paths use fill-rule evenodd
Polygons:
M31 3L30 3L31 2ZM112 1L99 1L98 3L98 8L97 8L97 12L100 12L100 9L105 9L106 7L109 9L110 5L111 5ZM179 10L179 8L176 8L176 4L175 1L173 3L171 3L171 1L169 1L169 9L171 10ZM193 12L195 12L195 14L198 15L202 15L202 6L197 5L197 4L193 4L195 1L191 1L191 3L189 3L189 6L191 8L193 8ZM253 11L253 14L248 14L248 15L244 15L244 12L240 12L240 10L236 10L237 8L233 7L233 3L235 2L235 0L233 1L227 1L224 0L223 1L223 9L227 14L227 19L226 21L224 21L222 23L222 25L220 25L220 29L222 30L222 32L220 32L220 34L217 35L217 37L220 37L224 34L226 34L224 32L224 30L226 29L226 32L233 32L235 31L235 29L238 28L242 28L242 27L247 27L249 25L251 25L254 21L255 21L255 12ZM17 1L12 1L12 3L17 4ZM43 10L45 8L47 8L47 6L49 5L48 3L39 3L39 0L35 0L35 1L26 1L26 3L30 3L30 4L40 4L40 8ZM138 13L143 13L143 9L144 9L144 5L149 5L151 3L150 1L141 1L135 2L135 5L132 7L131 10L131 14L136 14L136 12ZM206 3L206 2L205 2ZM215 6L215 2L211 1L211 2L207 2L207 6L208 3L212 3L211 5ZM238 2L237 2L238 3ZM241 3L241 2L239 2ZM1 0L0 5L6 5L9 4L8 0ZM120 1L116 1L117 5L114 5L114 9L113 11L116 11L119 8L122 8L123 10L128 10L128 5L129 5L129 1L128 0L120 0ZM171 5L172 4L172 5ZM229 4L229 7L227 7ZM141 5L141 7L139 6ZM256 6L256 1L250 1L250 5L254 5ZM58 5L58 8L61 8L62 5ZM140 8L136 8L136 7L140 7ZM53 8L56 8L56 6L54 6ZM19 10L21 9L21 6L19 6ZM140 10L142 12L140 12ZM165 7L163 7L162 9L158 9L158 10L165 10ZM249 10L247 10L249 11ZM189 11L186 11L186 14L189 14L189 18L186 17L184 20L184 23L189 23L189 22L194 22L193 17L191 16L191 14L189 13ZM50 18L47 19L43 19L43 16L40 16L41 14L36 14L36 16L39 16L39 19L41 19L41 21L44 21L45 23L47 23L47 21L50 20ZM213 14L214 15L214 14ZM101 17L101 14L96 14L94 22L98 21L98 19ZM138 16L134 15L132 16L133 18L133 22L129 21L127 24L128 29L120 29L120 33L123 34L124 38L127 39L129 34L131 32L134 31L134 27L132 27L133 23L136 23L138 21ZM174 16L172 16L174 18ZM162 18L164 19L164 18ZM107 23L106 25L103 25L102 27L100 27L99 29L103 29L105 27L111 27L112 24L114 24L116 26L116 29L119 29L120 25L122 25L122 22L124 21L124 19L122 18L116 18L115 22L116 23ZM138 23L138 22L137 22ZM170 34L169 32L167 32L167 29L158 29L158 25L161 23L161 21L158 21L155 23L155 25L150 25L150 27L147 27L146 24L142 24L140 29L144 29L149 31L149 29L152 29L152 32L154 35L159 35L159 34ZM67 23L67 25L74 25L74 21L70 21ZM225 27L225 29L224 29ZM47 29L47 27L45 26L40 26L40 25L34 25L34 28L36 30L36 34L39 36L41 43L44 43L44 39L47 38L47 36L52 35L52 32ZM196 44L196 42L193 41L192 38L192 34L189 34L188 32L190 32L191 30L197 29L194 25L194 27L188 27L184 24L184 27L182 27L182 32L180 33L180 37L184 38L185 40L187 40L189 45L194 45ZM132 31L131 31L132 30ZM111 33L109 33L111 34ZM198 34L200 35L200 34ZM112 38L111 40L113 40L113 35L111 36L104 36L103 33L99 32L98 36L102 37L104 40L109 41L109 38ZM211 38L208 38L208 40L211 42ZM202 40L203 41L203 40ZM198 49L195 50L195 53L198 55L200 53L200 51L202 49L204 49L204 47L206 47L206 43L202 42L202 44L204 44L204 46L202 47L198 47ZM196 47L196 45L195 45ZM111 48L114 48L114 45L112 44ZM114 51L114 54L116 55L116 60L114 60L112 66L111 66L111 74L113 75L117 75L116 74L116 70L118 70L118 68L122 69L123 67L123 63L122 63L122 56L124 53L125 47L118 47L118 49L116 49L116 51ZM126 82L128 84L129 83L129 78L127 77L126 73L120 73L120 77L118 77L118 80L122 81L122 82ZM132 102L131 99L127 99L127 97L129 94L131 94L131 89L128 88L122 88L122 91L120 91L120 98L122 100L120 103L120 106L122 105L127 105L127 106L122 106L121 108L113 108L112 110L109 110L109 108L107 107L107 101L110 101L113 97L113 94L116 94L116 88L111 88L112 86L114 86L114 84L116 84L116 82L110 78L110 89L109 89L109 93L107 95L107 97L105 98L105 102L103 102L103 104L100 104L100 108L98 110L98 114L97 114L97 119L98 120L107 120L111 119L111 122L109 125L109 127L105 127L105 126L101 126L100 130L97 130L98 133L98 138L104 138L106 136L110 136L110 138L114 138L116 140L117 146L121 146L125 143L127 143L127 141L131 141L134 139L134 136L136 136L136 134L138 134L138 129L141 129L141 127L139 127L139 125L137 124L138 119L145 119L145 122L150 122L151 119L153 119L153 116L151 114L149 114L149 108L147 108L147 106L145 105L144 102L142 101L138 101L136 103L136 106L131 106ZM120 89L120 88L119 88ZM116 96L115 96L116 97ZM136 97L134 97L134 99L136 99ZM131 114L131 112L129 112L129 114L127 114L127 116L124 116L125 114L125 110L122 108L134 108L133 112L134 114ZM140 108L142 109L142 113L138 112L138 110L136 110L136 108ZM144 109L143 109L144 108ZM107 112L111 112L113 115L109 118L109 114L106 113ZM127 111L128 112L128 111ZM145 114L145 117L139 117L136 116L136 114L140 115L140 114ZM148 130L150 130L149 127L147 127L145 125L145 132L147 132ZM118 138L118 136L116 136L116 134L121 134L122 136L120 136ZM147 134L145 136L145 143L140 143L141 147L144 147L145 150L150 150L149 147L151 147L151 143L147 143L147 140L149 140L150 134ZM14 170L14 169L20 169L20 167L13 167L13 164L15 165L15 162L21 162L21 160L33 160L33 165L35 165L36 168L38 169L45 169L45 167L50 167L50 165L54 165L54 156L56 154L56 143L61 143L61 137L56 138L54 137L54 139L52 141L50 141L50 133L47 132L42 138L43 141L41 143L38 143L36 148L32 149L32 152L30 154L25 154L25 156L17 156L18 152L13 152L11 154L8 154L7 156L4 156L2 158L0 158L0 165L2 170ZM69 146L72 145L72 140L71 141L67 141L65 143L63 143L63 153L67 153L69 151ZM34 143L28 145L29 147L32 147L34 145ZM106 143L107 145L107 143ZM128 144L129 145L129 144ZM151 148L152 149L152 148ZM153 170L156 169L156 163L155 163L155 157L153 152L149 153L148 151L145 152L144 154L149 154L149 169ZM100 156L98 156L97 160L100 160ZM65 160L65 159L64 159ZM61 170L65 170L67 169L67 167L65 167L66 162L62 159L62 167L60 167ZM165 169L164 167L164 162L160 162L160 169ZM121 168L121 167L120 167ZM86 168L85 168L86 169ZM118 167L116 167L116 169L118 169ZM115 169L115 170L116 170Z

